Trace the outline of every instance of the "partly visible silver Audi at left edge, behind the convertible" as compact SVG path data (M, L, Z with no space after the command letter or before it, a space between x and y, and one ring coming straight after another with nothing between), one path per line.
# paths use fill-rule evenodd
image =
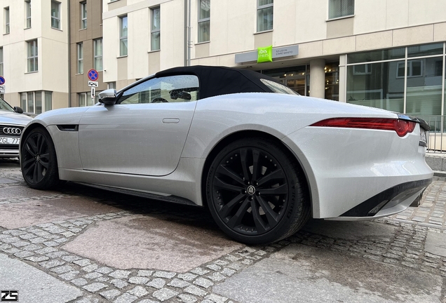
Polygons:
M19 156L20 135L31 117L22 114L20 107L11 107L0 98L0 158Z

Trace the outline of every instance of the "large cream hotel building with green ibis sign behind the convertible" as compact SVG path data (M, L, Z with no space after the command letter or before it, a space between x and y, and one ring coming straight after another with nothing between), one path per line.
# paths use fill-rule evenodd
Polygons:
M178 65L226 65L269 74L302 95L421 116L445 113L446 1L103 5L104 81L117 88ZM273 59L259 63L257 50L266 46Z

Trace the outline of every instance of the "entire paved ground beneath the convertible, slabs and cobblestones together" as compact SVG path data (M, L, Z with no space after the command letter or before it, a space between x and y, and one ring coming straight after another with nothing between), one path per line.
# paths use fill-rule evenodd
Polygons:
M201 208L71 182L36 191L0 159L0 290L33 303L446 303L445 201L435 177L398 216L311 220L246 246Z

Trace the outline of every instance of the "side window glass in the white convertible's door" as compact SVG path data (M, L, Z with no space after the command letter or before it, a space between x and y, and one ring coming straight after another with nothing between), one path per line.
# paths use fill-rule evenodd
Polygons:
M198 99L198 77L166 76L144 81L126 90L118 104L189 102Z

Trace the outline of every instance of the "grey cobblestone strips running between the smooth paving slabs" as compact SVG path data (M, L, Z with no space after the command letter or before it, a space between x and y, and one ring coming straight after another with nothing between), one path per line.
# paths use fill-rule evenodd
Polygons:
M0 166L0 181L0 192L2 188L25 187L18 166ZM433 183L426 189L419 208L410 208L399 215L376 220L380 224L396 227L396 233L389 238L346 240L299 231L294 236L272 245L245 246L185 273L150 268L117 269L82 255L69 253L62 246L83 234L97 222L134 214L156 216L168 213L172 216L212 222L210 215L199 208L147 203L147 200L142 198L132 198L129 203L125 195L93 190L72 183L62 187L55 194L42 192L38 196L15 198L2 198L0 195L0 206L76 196L95 198L95 201L100 199L100 203L106 203L119 210L18 229L0 227L0 253L26 262L60 281L79 288L83 296L73 301L77 303L234 302L212 292L212 287L287 247L290 243L301 243L352 257L409 267L442 276L443 281L446 281L446 257L428 253L424 248L428 232L446 234L446 180L442 177L434 178ZM443 283L443 303L446 303L445 285L446 283Z

